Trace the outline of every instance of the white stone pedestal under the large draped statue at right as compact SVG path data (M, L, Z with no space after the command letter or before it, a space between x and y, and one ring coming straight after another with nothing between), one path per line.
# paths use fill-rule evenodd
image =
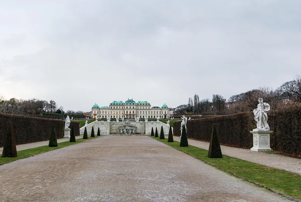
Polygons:
M253 147L251 151L273 151L270 147L271 130L256 130L250 131L253 134Z

